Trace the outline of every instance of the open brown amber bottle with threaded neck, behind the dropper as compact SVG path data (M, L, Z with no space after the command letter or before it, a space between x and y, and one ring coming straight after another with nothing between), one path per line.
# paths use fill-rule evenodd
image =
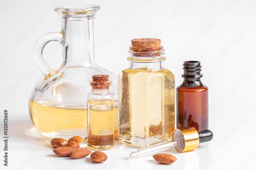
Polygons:
M202 84L199 61L185 61L184 82L177 87L178 128L208 129L208 87Z

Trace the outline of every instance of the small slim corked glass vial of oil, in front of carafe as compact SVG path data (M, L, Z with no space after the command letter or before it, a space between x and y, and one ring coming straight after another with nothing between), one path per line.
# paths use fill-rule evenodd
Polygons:
M111 81L108 75L93 75L88 94L89 149L107 150L114 147L114 94L109 91Z

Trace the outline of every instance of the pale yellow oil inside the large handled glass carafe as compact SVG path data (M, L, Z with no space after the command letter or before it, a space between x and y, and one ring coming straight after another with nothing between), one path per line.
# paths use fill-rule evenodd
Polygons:
M29 100L29 113L36 128L45 136L86 136L87 109L54 106L50 101ZM118 130L118 107L115 110L115 130Z

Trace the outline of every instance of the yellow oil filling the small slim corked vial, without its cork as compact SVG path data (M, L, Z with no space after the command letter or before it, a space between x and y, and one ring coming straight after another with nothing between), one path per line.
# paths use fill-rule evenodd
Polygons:
M114 101L110 99L90 99L87 146L89 149L111 149L114 147L113 114Z

